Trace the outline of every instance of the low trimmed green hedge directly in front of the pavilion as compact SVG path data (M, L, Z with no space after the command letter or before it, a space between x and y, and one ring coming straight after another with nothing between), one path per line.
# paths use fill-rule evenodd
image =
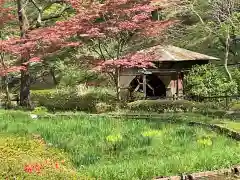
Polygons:
M194 102L187 100L138 100L128 103L128 108L132 111L150 112L192 111Z

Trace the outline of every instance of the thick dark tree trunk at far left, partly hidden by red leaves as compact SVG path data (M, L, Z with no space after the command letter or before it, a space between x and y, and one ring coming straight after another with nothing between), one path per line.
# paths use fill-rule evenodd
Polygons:
M18 21L20 28L20 36L24 38L25 32L28 29L28 21L24 12L24 8L22 7L22 0L17 0L17 9L18 9ZM21 59L21 63L26 62L25 58ZM31 100L30 100L30 74L28 71L28 67L26 67L26 71L21 71L21 85L20 85L20 106L24 106L27 108L32 108Z

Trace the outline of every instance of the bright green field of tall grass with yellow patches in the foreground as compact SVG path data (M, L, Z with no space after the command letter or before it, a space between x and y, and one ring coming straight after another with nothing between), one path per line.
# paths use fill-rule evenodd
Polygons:
M64 157L66 172L75 172L74 166L82 177L116 180L151 179L240 163L239 142L199 127L164 123L165 119L165 116L160 121L79 115L34 120L26 113L0 111L1 139L5 142L5 146L1 143L0 147L6 149L9 143L16 142L6 140L9 137L21 137L24 148L29 149L26 142L33 140L28 137L39 134L48 148L42 151L49 153L26 153L27 156L18 144L14 147L22 153L17 157L14 153L2 153L1 156L16 158L20 165L47 157L60 161ZM8 161L2 163L12 166ZM18 174L19 169L15 175ZM56 179L67 179L61 175Z

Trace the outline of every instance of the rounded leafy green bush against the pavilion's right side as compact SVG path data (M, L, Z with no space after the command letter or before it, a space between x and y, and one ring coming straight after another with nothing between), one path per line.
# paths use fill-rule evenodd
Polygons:
M185 79L185 91L188 95L211 97L238 93L237 82L230 82L227 75L212 64L196 66Z

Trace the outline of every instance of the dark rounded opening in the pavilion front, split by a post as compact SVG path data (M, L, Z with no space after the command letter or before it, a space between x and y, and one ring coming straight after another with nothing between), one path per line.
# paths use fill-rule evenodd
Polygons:
M166 87L161 79L154 75L147 75L147 97L166 97ZM143 93L143 76L137 76L130 83L130 91L134 93L134 90Z

